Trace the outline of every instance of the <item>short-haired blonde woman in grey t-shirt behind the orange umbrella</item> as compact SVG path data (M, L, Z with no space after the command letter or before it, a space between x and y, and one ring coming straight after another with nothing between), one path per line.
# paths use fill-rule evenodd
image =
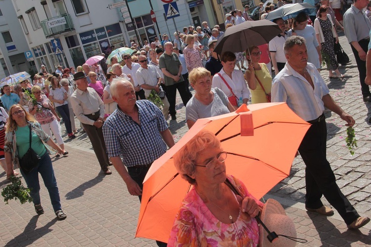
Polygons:
M185 106L185 120L188 128L197 119L210 118L234 111L226 94L219 88L211 88L211 74L205 68L195 68L189 74L190 85L195 94Z

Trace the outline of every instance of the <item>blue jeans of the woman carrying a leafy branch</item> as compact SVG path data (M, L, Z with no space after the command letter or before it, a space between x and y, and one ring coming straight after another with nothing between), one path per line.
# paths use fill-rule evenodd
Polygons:
M54 212L61 209L57 181L55 180L53 166L51 165L50 156L47 152L41 156L38 166L36 166L30 173L24 174L22 168L20 168L20 171L24 180L26 180L27 187L31 189L30 196L32 197L35 205L41 204L39 183L40 172L41 177L44 180L45 187L49 192L49 197Z

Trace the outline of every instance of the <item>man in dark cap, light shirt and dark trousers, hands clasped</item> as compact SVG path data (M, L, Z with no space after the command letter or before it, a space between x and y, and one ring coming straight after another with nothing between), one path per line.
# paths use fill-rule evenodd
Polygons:
M100 168L105 175L112 174L108 168L109 161L104 143L102 125L104 117L104 104L92 87L88 86L87 76L84 72L73 75L77 89L71 95L73 112L83 124L93 150L98 159Z

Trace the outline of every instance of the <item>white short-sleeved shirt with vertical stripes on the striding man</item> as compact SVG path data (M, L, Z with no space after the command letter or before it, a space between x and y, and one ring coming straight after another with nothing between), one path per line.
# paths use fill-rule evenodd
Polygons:
M317 119L325 110L322 97L329 93L324 79L316 67L308 63L306 67L312 78L311 84L286 63L273 79L272 102L286 102L288 107L305 121Z

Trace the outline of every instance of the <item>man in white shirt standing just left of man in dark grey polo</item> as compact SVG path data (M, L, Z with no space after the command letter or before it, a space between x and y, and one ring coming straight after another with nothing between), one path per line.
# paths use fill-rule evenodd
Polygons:
M156 67L153 65L148 65L146 63L147 58L144 55L139 56L140 68L137 70L136 78L140 87L144 89L145 97L148 98L152 90L155 90L156 93L162 90L161 87L161 76L157 72ZM161 99L161 102L164 104L162 106L162 114L165 117L165 120L169 119L169 101L166 98L164 93L164 98Z

